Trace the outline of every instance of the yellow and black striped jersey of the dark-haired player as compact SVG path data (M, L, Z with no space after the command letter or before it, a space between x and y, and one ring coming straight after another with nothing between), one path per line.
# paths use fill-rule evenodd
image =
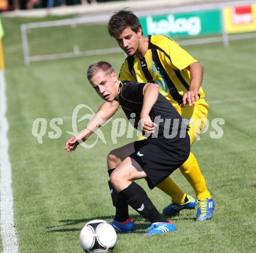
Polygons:
M148 36L148 50L140 59L136 55L128 56L123 63L119 79L138 83L159 84L162 95L173 106L182 104L183 94L189 90L190 72L186 67L198 62L177 42L163 35ZM200 88L200 98L204 92Z

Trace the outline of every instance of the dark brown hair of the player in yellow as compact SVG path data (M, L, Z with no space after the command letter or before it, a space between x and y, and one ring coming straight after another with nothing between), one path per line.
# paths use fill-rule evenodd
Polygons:
M141 28L138 17L130 10L119 10L115 12L108 22L108 33L114 36L116 33L120 33L126 27L130 26L131 30L137 33L138 28Z

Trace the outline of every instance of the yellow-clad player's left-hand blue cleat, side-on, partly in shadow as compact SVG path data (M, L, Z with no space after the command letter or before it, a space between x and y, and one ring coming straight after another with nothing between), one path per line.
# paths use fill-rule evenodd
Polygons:
M170 205L163 208L163 214L166 216L174 216L183 209L195 209L197 201L190 195L187 195L187 199L189 200L182 205L178 205L175 202L170 203Z

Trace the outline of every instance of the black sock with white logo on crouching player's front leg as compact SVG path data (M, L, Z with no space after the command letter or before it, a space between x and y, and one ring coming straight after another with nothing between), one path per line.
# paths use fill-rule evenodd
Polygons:
M158 212L153 205L147 193L136 183L131 183L130 186L120 191L123 199L126 199L134 210L136 210L145 219L149 219L151 223L167 222L167 220Z

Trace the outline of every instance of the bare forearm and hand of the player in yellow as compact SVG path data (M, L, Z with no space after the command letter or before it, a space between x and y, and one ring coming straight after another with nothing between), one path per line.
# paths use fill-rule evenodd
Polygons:
M183 95L182 106L189 104L194 105L195 101L198 101L198 91L202 85L202 75L204 73L204 67L199 62L194 62L190 66L186 67L190 70L190 88L189 91Z

